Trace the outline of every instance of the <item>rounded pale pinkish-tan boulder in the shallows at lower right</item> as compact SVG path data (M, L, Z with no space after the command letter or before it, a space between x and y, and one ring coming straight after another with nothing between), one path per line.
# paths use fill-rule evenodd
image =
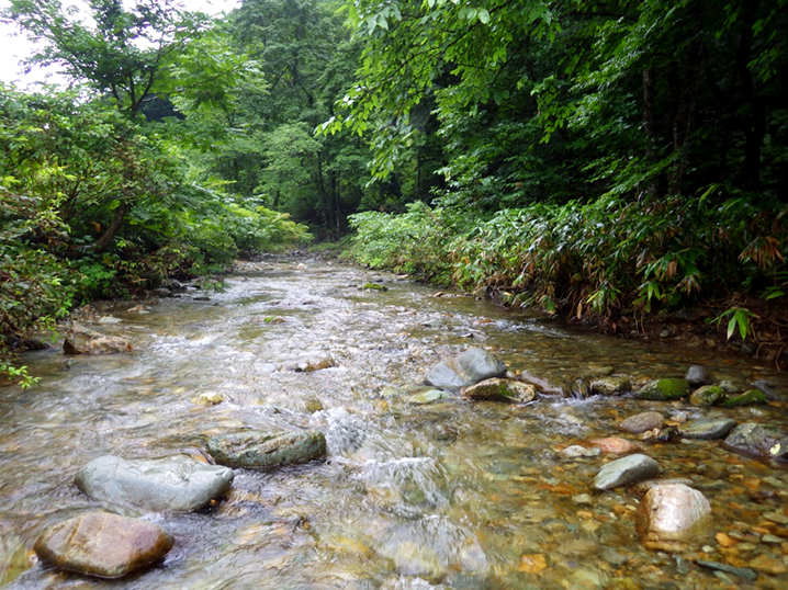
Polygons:
M711 506L706 497L683 484L651 488L635 515L640 541L648 549L680 551L706 532Z

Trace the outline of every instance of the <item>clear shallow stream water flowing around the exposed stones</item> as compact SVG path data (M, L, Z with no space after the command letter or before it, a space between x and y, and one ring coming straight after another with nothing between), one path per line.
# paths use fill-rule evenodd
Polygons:
M358 288L370 281L389 291ZM272 260L247 264L210 300L191 291L149 302L143 313L130 310L136 304L100 307L95 320L123 321L97 329L128 337L131 354L25 355L41 386L0 389L0 580L24 570L11 588L788 587L788 538L778 536L788 532L764 520L788 513L788 472L779 465L717 441L640 442L665 477L691 478L711 502L706 544L676 555L640 546L634 496L590 493L607 458L560 453L620 434L618 421L646 409L677 421L725 413L788 428L784 375L675 343L581 334L435 292L336 263ZM766 379L778 399L731 410L599 397L408 404L430 366L471 347L575 389L603 366L645 379L683 376L699 363L742 387ZM335 366L292 370L327 359ZM204 405L201 394L224 401ZM35 563L31 548L46 526L99 508L74 485L89 461L204 458L207 438L245 428L318 429L328 458L238 469L213 509L144 515L172 533L176 546L131 578L90 580ZM718 532L736 544L722 547ZM695 565L698 557L769 567L747 582Z

